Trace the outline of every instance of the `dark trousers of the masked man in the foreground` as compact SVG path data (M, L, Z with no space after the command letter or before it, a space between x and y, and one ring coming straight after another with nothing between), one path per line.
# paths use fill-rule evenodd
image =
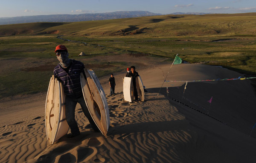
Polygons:
M74 135L77 135L80 133L79 128L76 123L76 119L75 119L75 109L76 109L77 103L79 103L81 105L84 115L89 120L94 131L99 131L98 127L96 126L96 124L93 121L93 118L90 115L89 110L87 109L87 106L84 101L84 97L81 96L79 98L73 99L73 98L69 98L66 96L66 118L67 118L67 124L70 126L71 133Z

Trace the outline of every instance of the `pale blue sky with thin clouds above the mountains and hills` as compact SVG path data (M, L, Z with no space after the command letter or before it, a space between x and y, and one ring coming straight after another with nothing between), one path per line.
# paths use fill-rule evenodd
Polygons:
M114 11L246 13L256 12L256 0L0 0L0 17Z

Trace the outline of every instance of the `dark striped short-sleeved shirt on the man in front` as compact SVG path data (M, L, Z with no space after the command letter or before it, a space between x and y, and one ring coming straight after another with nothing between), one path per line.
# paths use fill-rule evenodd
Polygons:
M80 84L81 72L84 72L84 64L74 59L71 59L71 65L67 72L60 64L54 68L54 77L63 84L66 96L70 98L79 98L83 95Z

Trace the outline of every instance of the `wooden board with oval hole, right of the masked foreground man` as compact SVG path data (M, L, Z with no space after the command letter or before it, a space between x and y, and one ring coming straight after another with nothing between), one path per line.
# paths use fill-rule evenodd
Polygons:
M107 135L110 117L105 92L93 70L84 69L84 72L87 80L83 73L80 75L84 101L99 130L103 135Z

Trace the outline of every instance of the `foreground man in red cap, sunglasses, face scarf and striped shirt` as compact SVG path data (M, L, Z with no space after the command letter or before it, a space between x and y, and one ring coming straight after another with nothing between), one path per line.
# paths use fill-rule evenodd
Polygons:
M73 138L80 134L75 119L75 108L77 103L81 105L84 115L88 118L93 130L99 132L98 127L94 123L93 118L87 109L82 94L80 73L84 73L84 64L80 61L69 59L67 48L64 45L56 46L55 54L60 63L54 68L53 73L55 78L64 86L64 93L66 95L66 119L71 130L71 134L68 135L68 138Z

